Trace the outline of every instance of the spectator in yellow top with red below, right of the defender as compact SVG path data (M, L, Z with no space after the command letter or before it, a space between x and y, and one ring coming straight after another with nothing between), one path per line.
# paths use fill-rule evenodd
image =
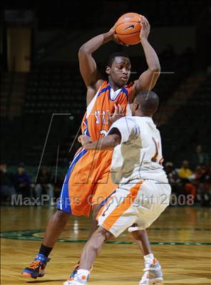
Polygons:
M192 195L194 200L196 200L196 187L193 185L190 180L192 180L192 171L190 170L189 162L187 160L183 160L182 167L178 170L178 175L182 182L183 191L185 194Z

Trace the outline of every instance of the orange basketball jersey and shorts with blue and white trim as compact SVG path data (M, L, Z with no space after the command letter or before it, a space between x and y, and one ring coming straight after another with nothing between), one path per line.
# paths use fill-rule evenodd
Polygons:
M125 115L130 115L132 86L123 86L114 92L109 83L103 81L83 117L83 135L90 136L93 141L106 135L110 128L108 112L114 113L115 104L125 107ZM116 188L110 179L112 153L110 150L96 151L80 147L63 182L57 209L88 216L93 204L103 204L108 199Z

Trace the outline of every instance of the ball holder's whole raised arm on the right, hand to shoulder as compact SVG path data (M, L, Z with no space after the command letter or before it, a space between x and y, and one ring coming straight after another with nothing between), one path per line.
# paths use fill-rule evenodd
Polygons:
M135 94L142 90L151 90L155 86L158 77L160 76L160 62L154 48L148 42L148 35L150 33L150 24L148 20L141 16L142 28L140 30L140 42L143 46L145 58L148 63L148 70L140 75L140 78L135 81L133 85L133 93L131 101L133 102Z

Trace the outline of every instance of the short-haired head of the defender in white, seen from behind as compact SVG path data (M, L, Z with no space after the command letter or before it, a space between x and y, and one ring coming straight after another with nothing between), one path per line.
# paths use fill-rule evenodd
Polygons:
M158 105L159 97L154 91L140 91L135 96L132 114L153 117L155 112L158 110Z

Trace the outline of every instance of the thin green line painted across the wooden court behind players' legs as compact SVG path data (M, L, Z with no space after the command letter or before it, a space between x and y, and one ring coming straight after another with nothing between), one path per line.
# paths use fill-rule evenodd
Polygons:
M29 240L29 241L41 241L42 237L34 237L34 234L44 232L44 230L26 230L26 231L9 231L1 232L1 238L4 239L16 239L16 240ZM87 239L58 239L58 242L71 242L85 244ZM136 244L135 242L124 241L108 241L107 244ZM150 242L150 244L156 245L211 245L211 242Z

